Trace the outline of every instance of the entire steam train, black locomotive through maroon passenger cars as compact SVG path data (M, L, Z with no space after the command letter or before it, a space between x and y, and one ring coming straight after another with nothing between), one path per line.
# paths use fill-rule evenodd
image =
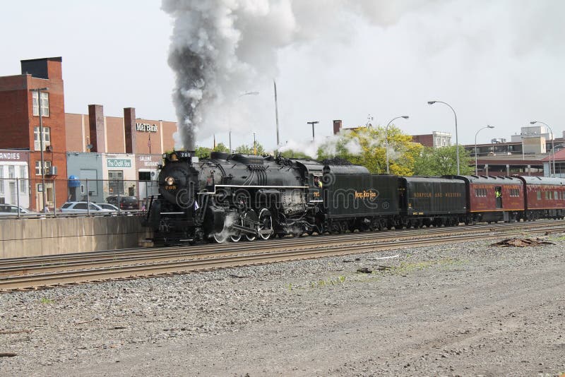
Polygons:
M565 216L565 179L370 174L345 161L163 155L146 224L156 243Z

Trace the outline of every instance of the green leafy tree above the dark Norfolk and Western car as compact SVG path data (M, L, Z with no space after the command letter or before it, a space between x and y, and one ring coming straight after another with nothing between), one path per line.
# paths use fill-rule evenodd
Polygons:
M475 172L470 152L462 145L459 145L459 170L462 175L470 175ZM416 158L414 174L422 176L456 175L456 146L424 148Z

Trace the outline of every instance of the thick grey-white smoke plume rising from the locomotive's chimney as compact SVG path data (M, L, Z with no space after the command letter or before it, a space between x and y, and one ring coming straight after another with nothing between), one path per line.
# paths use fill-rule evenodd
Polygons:
M330 34L347 42L352 18L391 25L423 0L163 0L174 20L169 65L177 146L193 150L196 133L227 131L234 100L277 73L277 53ZM336 32L336 30L339 30Z

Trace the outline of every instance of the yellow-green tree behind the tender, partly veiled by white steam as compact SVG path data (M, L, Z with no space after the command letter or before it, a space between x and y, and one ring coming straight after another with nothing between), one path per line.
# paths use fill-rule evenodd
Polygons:
M400 128L388 128L388 167L391 174L410 176L413 174L416 157L422 145L412 143L412 136ZM386 173L385 128L355 128L330 138L318 151L319 160L340 157L369 169L374 174Z

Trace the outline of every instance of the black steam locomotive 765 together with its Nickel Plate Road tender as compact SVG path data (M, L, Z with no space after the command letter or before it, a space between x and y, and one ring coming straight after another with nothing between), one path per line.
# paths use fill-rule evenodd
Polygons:
M163 159L147 215L157 243L379 229L398 214L396 177L364 167L221 152Z

